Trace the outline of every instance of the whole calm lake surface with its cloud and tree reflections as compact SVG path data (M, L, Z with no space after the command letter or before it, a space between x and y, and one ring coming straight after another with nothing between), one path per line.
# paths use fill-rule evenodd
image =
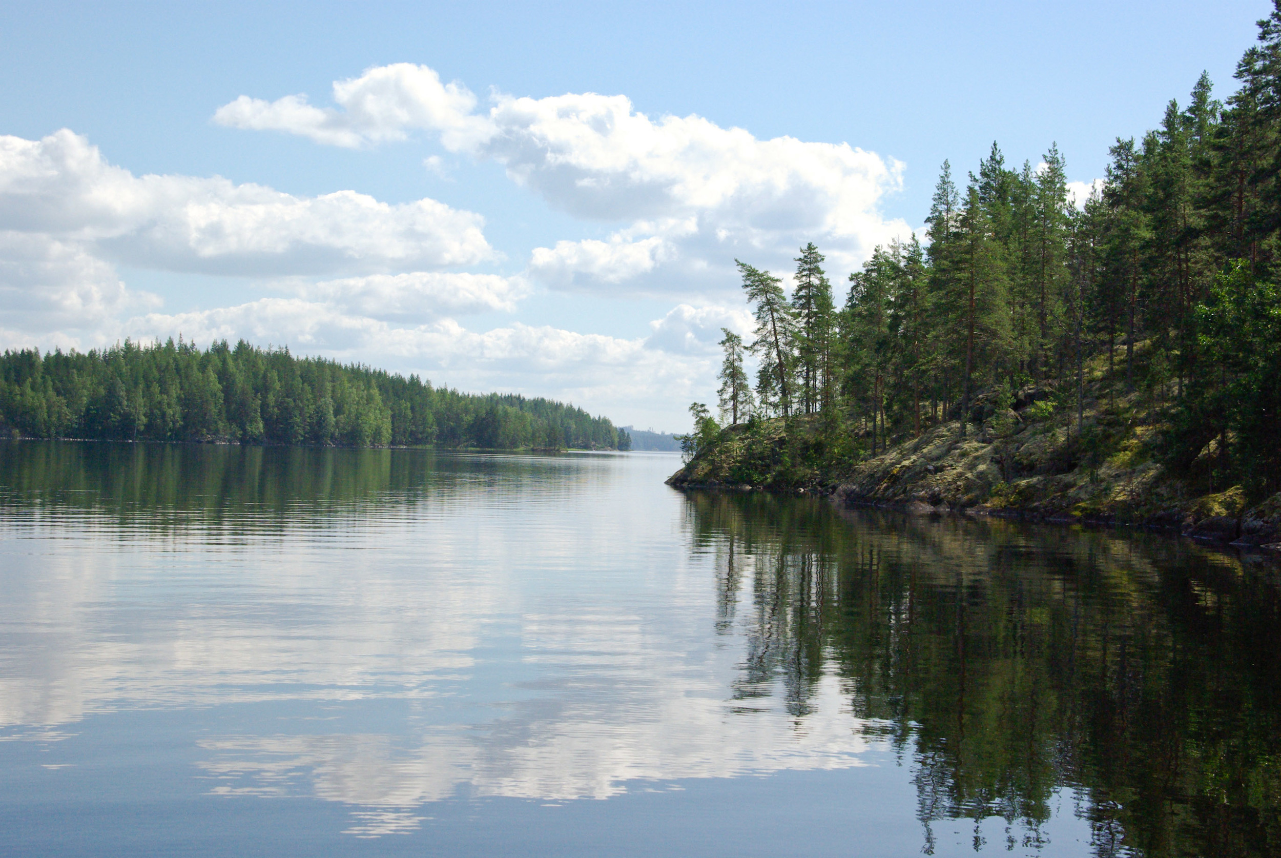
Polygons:
M1275 567L666 455L0 443L0 853L1269 855Z

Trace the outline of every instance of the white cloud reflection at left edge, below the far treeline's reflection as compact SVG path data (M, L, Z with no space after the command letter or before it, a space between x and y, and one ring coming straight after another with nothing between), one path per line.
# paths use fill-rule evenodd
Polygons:
M245 522L228 533L204 533L196 519L191 531L156 534L158 548L188 548L192 537L211 539L206 560L218 574L240 580L238 598L172 604L164 616L145 613L140 625L127 610L96 610L114 603L120 588L128 587L115 578L120 569L138 571L120 553L114 521L92 516L64 521L82 530L83 542L60 546L46 558L38 583L10 576L32 589L9 587L6 625L38 634L42 645L3 652L0 726L60 725L142 704L278 700L281 685L291 686L288 695L296 699L332 699L334 688L386 683L396 684L396 697L427 697L432 681L473 666L477 617L496 598L483 583L448 575L451 565L465 569L469 561L447 547L434 557L433 566L439 563L443 571L425 602L406 603L396 581L378 579L374 557L343 556L347 569L337 567L328 552L342 546L330 540L345 528L360 526L359 517L338 516L316 534L319 542L290 546L246 534ZM357 542L371 546L377 538L366 533ZM219 544L224 539L232 546ZM264 556L255 561L254 552ZM272 570L272 588L254 580L263 563ZM143 569L170 580L163 563L159 570ZM181 576L188 570L169 571ZM348 575L373 579L361 588L357 604L315 595L343 592ZM343 629L354 631L345 635ZM391 693L361 690L356 697Z

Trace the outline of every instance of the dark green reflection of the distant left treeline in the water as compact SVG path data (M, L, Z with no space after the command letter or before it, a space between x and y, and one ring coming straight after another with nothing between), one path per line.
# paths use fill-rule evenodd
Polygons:
M548 476L546 490L584 479L553 467L555 460L429 449L22 441L0 443L0 510L23 517L56 506L150 530L272 530L296 526L300 512L412 503L478 479L538 473Z

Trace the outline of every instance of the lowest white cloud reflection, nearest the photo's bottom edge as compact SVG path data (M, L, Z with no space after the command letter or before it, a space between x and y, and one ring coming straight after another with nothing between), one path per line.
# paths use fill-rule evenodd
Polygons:
M621 644L620 644L621 647ZM629 652L638 660L653 653ZM364 808L414 808L460 793L603 799L630 781L848 768L867 749L839 680L820 681L803 726L785 712L733 712L712 676L640 676L564 689L473 727L387 735L218 736L200 767L220 795L315 795ZM389 820L404 823L402 814Z

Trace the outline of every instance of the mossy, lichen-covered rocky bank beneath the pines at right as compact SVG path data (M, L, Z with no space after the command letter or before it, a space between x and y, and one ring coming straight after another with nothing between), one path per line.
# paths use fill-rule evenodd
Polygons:
M1097 419L1082 441L1070 426L1016 419L1009 421L1012 432L976 428L962 437L959 424L942 424L857 464L789 470L761 467L762 448L785 449L789 432L803 433L802 424L735 426L673 474L667 485L826 496L843 507L910 515L1135 526L1281 554L1281 493L1259 503L1248 503L1239 487L1198 494L1145 457L1144 426L1113 426L1108 433ZM788 461L784 455L775 458ZM757 465L748 467L749 461Z

